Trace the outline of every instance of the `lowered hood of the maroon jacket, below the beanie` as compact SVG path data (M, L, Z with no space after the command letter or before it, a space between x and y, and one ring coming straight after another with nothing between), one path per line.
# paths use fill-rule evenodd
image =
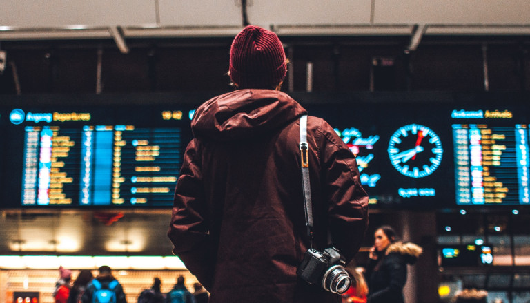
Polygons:
M307 114L293 98L276 90L235 90L206 101L191 121L193 135L218 141L270 132Z

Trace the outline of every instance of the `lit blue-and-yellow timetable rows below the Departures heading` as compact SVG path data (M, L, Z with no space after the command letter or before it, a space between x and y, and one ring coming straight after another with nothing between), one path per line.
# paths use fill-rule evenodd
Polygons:
M22 205L160 205L181 165L181 130L26 127Z

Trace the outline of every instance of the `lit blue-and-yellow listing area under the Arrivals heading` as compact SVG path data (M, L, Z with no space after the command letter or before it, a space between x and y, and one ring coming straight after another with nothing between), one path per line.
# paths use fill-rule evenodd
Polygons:
M453 125L458 205L528 205L527 125Z

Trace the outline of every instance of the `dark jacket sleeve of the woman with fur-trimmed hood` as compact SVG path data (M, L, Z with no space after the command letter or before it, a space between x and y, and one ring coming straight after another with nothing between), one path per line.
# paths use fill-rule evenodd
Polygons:
M384 289L369 294L369 303L392 302L402 295L406 283L406 263L397 253L386 255L384 262L387 265L389 283Z

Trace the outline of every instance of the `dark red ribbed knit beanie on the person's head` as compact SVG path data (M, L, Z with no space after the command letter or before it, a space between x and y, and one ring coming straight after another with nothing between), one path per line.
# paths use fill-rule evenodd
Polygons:
M232 42L229 71L239 88L272 89L287 73L282 42L274 32L248 25Z

